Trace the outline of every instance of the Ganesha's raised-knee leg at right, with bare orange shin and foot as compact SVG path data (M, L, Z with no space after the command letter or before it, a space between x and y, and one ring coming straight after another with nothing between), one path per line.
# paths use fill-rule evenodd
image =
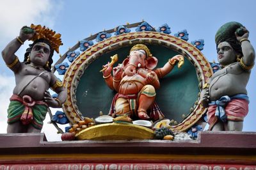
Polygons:
M142 120L148 120L147 109L154 103L156 90L152 85L144 86L139 93L138 117Z

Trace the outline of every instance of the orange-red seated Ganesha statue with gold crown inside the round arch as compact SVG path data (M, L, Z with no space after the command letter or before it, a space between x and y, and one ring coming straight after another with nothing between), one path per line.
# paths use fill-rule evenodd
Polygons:
M134 45L122 64L113 68L115 56L102 69L106 84L118 92L113 98L109 115L153 121L163 119L164 114L155 102L156 89L160 88L159 79L171 72L177 63L180 67L184 57L174 56L162 68L154 69L158 60L144 44Z

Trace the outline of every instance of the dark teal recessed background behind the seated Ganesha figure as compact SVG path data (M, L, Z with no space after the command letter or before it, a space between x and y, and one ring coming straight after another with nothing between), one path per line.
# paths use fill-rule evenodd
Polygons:
M157 67L163 67L169 58L172 58L177 52L160 45L147 45L153 56L158 59ZM76 89L77 107L83 116L96 118L99 112L108 114L112 99L116 93L108 88L102 73L102 65L110 62L110 56L118 54L116 66L129 54L132 46L122 47L117 50L103 54L95 59L81 76L81 80ZM184 65L181 68L175 68L163 79L160 79L161 88L157 89L156 102L166 118L182 121L182 114L188 115L189 109L193 107L197 100L198 79L195 66L185 58Z

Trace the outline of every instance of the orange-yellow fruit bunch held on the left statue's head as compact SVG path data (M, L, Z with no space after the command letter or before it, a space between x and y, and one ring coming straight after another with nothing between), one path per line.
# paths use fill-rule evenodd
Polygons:
M34 24L31 24L30 27L35 30L35 35L31 38L31 41L34 42L39 39L48 40L52 49L59 53L59 47L60 45L63 45L59 33L57 34L55 31L52 31L52 29L49 29L49 27L42 27L41 25L35 26Z

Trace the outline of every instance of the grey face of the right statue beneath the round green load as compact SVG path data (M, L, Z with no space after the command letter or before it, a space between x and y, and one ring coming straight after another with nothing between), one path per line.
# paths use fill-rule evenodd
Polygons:
M218 61L221 65L230 65L236 62L237 52L228 42L221 42L217 48Z

